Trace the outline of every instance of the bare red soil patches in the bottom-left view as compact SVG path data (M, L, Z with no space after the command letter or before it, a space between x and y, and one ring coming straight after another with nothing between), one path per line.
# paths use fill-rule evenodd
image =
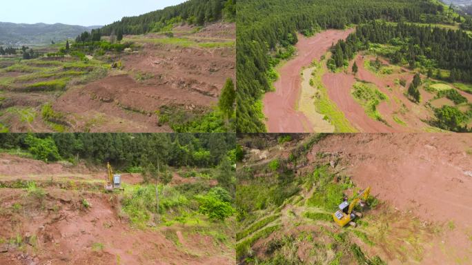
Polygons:
M142 181L139 174L122 177L127 184ZM57 188L59 179L76 183L105 180L106 173L98 168L0 154L0 181L17 179L56 183L43 186L46 196L42 200L24 189L0 188L0 239L18 235L23 244L18 249L0 240L0 264L235 264L234 250L195 232L193 226L132 228L119 208L119 194ZM82 206L82 199L90 208ZM19 204L21 209L14 210ZM32 236L37 243L32 243ZM172 238L179 238L181 246Z

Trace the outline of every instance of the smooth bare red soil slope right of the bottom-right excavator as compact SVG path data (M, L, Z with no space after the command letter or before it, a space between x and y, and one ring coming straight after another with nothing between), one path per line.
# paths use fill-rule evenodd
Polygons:
M471 150L471 135L349 134L320 141L308 159L320 152L340 157L357 186L371 186L373 195L404 213L444 224L425 246L422 263L452 264L472 253Z

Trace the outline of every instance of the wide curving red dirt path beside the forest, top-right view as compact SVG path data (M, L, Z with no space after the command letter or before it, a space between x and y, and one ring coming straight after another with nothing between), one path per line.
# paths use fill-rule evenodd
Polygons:
M279 69L279 80L274 84L275 92L264 96L264 115L267 117L266 126L269 133L304 133L313 132L313 124L295 105L300 96L302 79L300 72L314 59L319 59L340 39L346 39L350 30L326 30L315 37L299 36L295 46L298 51L295 59L288 61Z

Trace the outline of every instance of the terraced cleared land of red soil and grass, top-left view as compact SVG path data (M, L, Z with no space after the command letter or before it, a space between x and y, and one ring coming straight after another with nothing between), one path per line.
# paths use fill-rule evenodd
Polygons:
M0 58L0 124L10 132L170 132L208 114L235 79L235 24L172 31L125 36L129 50L85 61Z

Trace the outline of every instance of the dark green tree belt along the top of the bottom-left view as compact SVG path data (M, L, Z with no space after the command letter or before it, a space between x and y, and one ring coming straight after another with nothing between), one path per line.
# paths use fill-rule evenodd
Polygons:
M234 134L0 134L0 148L37 152L39 159L107 161L119 168L148 166L214 167L235 148ZM36 154L36 153L35 153ZM230 155L229 155L230 156Z

